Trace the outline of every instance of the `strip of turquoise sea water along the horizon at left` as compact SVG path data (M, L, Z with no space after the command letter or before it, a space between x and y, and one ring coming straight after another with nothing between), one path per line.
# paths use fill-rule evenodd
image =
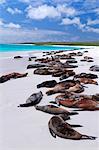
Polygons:
M24 44L0 44L0 52L16 52L16 51L49 51L49 50L74 50L79 49L71 46L37 46L37 45L24 45Z

